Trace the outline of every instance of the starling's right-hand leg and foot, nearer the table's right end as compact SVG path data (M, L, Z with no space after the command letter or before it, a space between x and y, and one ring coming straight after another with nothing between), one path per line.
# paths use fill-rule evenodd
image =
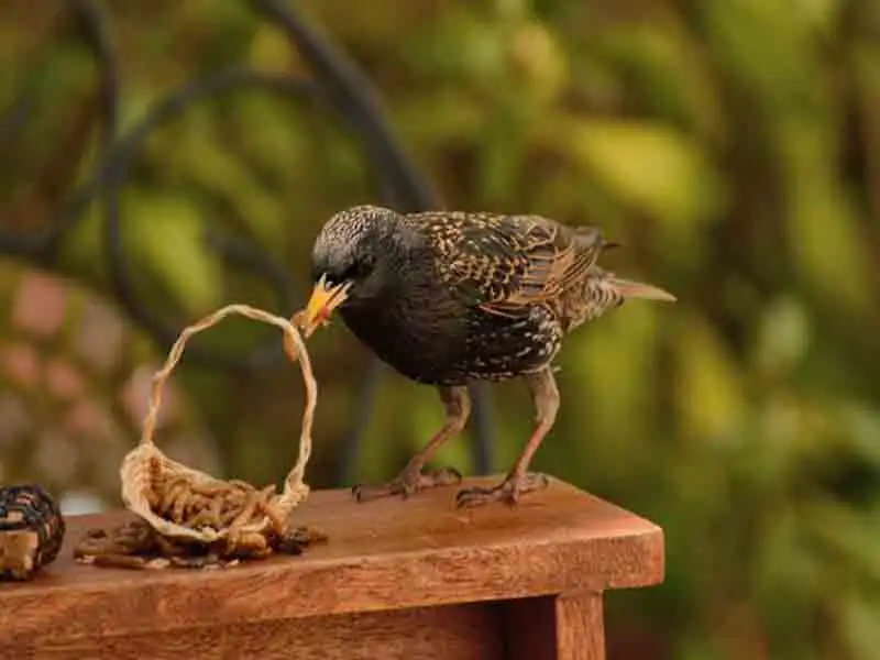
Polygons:
M526 382L531 389L531 396L537 409L537 425L529 437L522 453L514 464L507 477L497 486L488 488L475 486L459 491L455 503L460 507L479 506L494 501L503 501L507 504L516 504L520 495L540 491L547 487L548 481L543 474L528 472L535 452L543 441L559 411L559 389L553 377L553 372L548 365L539 372L527 374Z

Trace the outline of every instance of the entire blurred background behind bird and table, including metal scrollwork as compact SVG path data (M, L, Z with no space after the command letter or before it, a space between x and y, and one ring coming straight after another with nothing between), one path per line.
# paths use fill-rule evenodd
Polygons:
M299 308L339 209L596 223L680 299L568 340L535 462L666 530L666 584L609 595L610 657L880 658L877 0L0 0L0 482L119 506L169 341ZM189 346L160 444L279 481L277 333ZM391 477L435 393L341 324L310 349L308 481ZM503 472L528 394L480 400L438 462Z

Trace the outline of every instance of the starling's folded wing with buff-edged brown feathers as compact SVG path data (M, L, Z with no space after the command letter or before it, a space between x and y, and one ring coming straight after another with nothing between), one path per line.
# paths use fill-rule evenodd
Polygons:
M596 228L540 216L451 212L425 220L440 277L470 306L506 316L559 296L606 245Z

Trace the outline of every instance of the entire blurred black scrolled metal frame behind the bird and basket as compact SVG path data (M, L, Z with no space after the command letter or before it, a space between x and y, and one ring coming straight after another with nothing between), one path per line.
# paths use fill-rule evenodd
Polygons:
M77 31L91 50L99 70L99 163L91 179L74 191L50 227L24 235L0 232L0 254L53 270L62 239L84 216L89 205L98 200L103 206L103 241L111 293L128 316L164 349L175 341L179 328L157 316L138 297L122 248L119 198L132 162L145 138L164 121L179 114L189 103L242 87L260 88L270 94L318 103L360 140L365 155L375 168L376 183L384 204L402 211L439 207L436 194L387 123L378 94L354 63L304 20L293 2L249 1L257 13L286 32L293 47L308 63L314 77L293 78L241 67L224 69L193 79L169 92L155 102L136 125L120 135L119 73L108 22L95 0L68 0L69 9L77 20ZM0 116L0 136L22 125L28 120L31 106L31 99L25 92L3 112ZM210 233L206 240L223 258L250 270L272 284L282 308L287 311L296 309L295 299L301 298L301 295L297 296L290 274L258 245L216 233ZM275 342L272 345L257 346L244 358L231 358L194 345L188 349L187 358L212 367L232 370L262 369L279 359ZM361 430L366 426L373 409L382 372L382 364L378 360L373 360L359 385L358 409L340 452L338 480L342 483L350 481L352 476ZM491 466L492 428L488 402L477 385L472 387L472 396L474 462L476 471L485 473Z

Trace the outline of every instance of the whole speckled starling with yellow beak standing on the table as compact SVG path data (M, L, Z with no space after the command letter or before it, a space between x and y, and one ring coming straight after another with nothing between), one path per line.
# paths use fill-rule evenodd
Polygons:
M338 309L383 362L435 385L446 408L442 428L403 472L383 486L355 486L358 499L460 482L454 470L422 469L463 430L469 382L517 376L531 391L535 430L501 484L462 490L457 502L514 504L546 486L546 477L528 466L559 409L551 361L563 337L629 298L675 300L600 267L600 254L614 245L597 228L540 216L358 206L330 218L312 250L315 288L300 317L305 332Z

